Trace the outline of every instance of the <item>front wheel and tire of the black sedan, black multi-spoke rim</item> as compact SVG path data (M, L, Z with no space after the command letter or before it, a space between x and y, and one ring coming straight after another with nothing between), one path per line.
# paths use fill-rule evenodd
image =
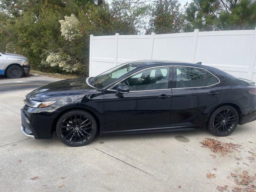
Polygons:
M56 135L68 146L88 144L96 135L97 122L84 110L70 110L60 116L56 124Z

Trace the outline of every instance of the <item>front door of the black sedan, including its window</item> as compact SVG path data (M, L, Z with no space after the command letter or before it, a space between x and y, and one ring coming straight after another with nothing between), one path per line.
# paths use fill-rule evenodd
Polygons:
M106 130L128 130L170 126L172 66L141 70L115 84L104 95ZM126 84L130 92L116 95Z

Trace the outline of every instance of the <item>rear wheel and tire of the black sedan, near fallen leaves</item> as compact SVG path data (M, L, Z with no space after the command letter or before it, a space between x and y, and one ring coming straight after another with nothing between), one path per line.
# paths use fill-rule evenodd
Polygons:
M215 136L228 136L236 129L238 120L239 115L234 107L221 106L212 112L207 129Z

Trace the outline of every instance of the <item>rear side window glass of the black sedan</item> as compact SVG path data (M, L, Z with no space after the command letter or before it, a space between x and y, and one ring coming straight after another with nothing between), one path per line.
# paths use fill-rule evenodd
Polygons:
M175 74L176 72L176 74ZM174 69L173 88L206 87L218 83L214 75L204 69L177 66Z

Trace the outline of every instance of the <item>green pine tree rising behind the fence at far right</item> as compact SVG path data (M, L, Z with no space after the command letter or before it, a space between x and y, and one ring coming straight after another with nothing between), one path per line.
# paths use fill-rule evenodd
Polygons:
M255 0L194 0L185 11L185 31L254 29Z

